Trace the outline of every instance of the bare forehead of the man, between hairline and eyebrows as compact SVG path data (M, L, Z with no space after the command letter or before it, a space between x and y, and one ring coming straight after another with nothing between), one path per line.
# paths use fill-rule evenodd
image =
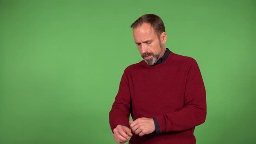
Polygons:
M157 37L150 23L142 23L141 26L134 28L133 36L135 40L143 40L148 38L153 39Z

